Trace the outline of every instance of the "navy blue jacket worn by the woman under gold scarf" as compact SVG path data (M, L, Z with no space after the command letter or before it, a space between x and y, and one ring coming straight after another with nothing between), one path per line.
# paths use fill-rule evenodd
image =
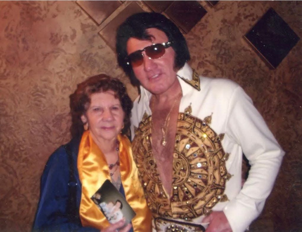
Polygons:
M79 180L77 158L79 138L60 146L50 156L41 177L40 201L33 231L43 232L98 232L83 227L79 218L82 184ZM125 196L123 185L120 193ZM130 232L133 232L132 228Z

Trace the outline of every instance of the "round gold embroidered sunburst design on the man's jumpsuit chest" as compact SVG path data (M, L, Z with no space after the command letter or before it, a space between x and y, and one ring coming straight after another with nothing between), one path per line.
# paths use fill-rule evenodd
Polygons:
M221 140L209 126L211 116L201 120L190 114L178 114L173 151L172 196L166 196L157 171L151 146L151 116L144 114L135 130L133 156L139 170L147 204L154 217L181 218L190 221L207 215L218 202L226 201L226 181L230 178Z

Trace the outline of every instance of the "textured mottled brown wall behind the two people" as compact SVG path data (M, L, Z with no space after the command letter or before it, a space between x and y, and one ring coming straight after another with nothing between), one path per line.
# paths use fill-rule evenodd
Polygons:
M142 4L142 2L139 2ZM269 7L302 38L302 3L220 1L186 34L199 74L230 78L252 97L287 152L252 231L301 227L301 40L270 70L243 39ZM29 231L49 155L69 140L69 94L86 77L120 78L98 26L74 1L0 2L0 231Z

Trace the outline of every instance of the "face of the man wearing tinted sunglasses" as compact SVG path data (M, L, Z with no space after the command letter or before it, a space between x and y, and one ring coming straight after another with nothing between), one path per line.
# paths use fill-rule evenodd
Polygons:
M166 43L168 38L166 34L156 28L147 29L152 40L140 40L130 38L127 41L127 54L143 50L145 47L157 43ZM150 59L143 51L143 63L139 66L132 65L133 72L141 85L153 94L167 93L173 89L177 82L174 68L175 52L172 47L165 49L165 54L157 59Z

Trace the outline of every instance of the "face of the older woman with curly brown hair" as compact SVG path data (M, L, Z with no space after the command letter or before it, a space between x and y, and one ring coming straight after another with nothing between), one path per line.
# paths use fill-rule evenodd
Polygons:
M124 125L124 111L120 100L114 97L114 91L93 93L90 96L91 103L82 122L88 122L92 137L109 142L116 140L117 135Z

